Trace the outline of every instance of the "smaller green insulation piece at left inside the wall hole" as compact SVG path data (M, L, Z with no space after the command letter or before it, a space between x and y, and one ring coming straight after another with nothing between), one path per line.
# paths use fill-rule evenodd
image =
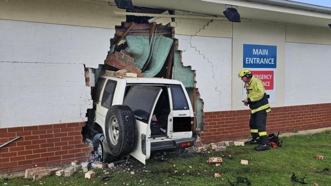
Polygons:
M125 50L135 59L137 67L142 69L149 56L149 36L126 36L125 39L128 44Z

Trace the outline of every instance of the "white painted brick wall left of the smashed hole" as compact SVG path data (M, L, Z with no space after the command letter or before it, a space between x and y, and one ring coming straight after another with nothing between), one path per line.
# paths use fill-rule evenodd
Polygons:
M114 30L0 20L0 128L86 121Z

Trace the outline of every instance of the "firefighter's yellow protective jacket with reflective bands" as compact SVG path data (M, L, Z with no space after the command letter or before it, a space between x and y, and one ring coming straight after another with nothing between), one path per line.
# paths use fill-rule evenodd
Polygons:
M266 111L267 113L271 111L266 91L260 79L252 77L245 87L252 114L259 111Z

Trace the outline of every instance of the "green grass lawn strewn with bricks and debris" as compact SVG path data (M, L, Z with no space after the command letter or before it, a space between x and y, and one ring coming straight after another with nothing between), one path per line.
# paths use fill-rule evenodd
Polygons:
M235 181L238 176L246 177L251 185L301 185L292 182L292 172L298 178L313 185L331 185L331 131L315 135L298 135L283 138L283 146L268 151L253 151L254 146L227 147L226 152L216 153L210 149L206 153L169 155L166 161L155 159L147 161L144 166L136 160L127 164L103 170L94 169L96 176L84 178L83 172L71 177L48 176L41 180L27 180L21 177L8 181L0 179L0 185L230 185L228 179ZM208 151L210 153L208 153ZM228 158L228 155L233 158ZM316 160L315 155L324 155L324 160ZM208 157L223 155L223 164L219 167L206 163ZM241 165L240 160L248 160L249 165ZM175 166L173 166L173 164ZM328 168L329 171L316 173ZM130 169L130 170L128 170ZM134 171L135 174L130 174ZM221 178L215 178L221 173ZM102 181L105 176L113 176ZM238 184L245 185L245 184Z

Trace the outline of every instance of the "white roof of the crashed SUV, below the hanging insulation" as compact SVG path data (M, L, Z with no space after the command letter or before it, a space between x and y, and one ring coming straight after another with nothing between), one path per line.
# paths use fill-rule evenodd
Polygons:
M158 78L158 77L114 77L107 75L100 75L100 77L104 77L107 79L123 79L126 83L150 83L150 84L175 84L181 85L180 81L174 79L166 79L166 78Z

